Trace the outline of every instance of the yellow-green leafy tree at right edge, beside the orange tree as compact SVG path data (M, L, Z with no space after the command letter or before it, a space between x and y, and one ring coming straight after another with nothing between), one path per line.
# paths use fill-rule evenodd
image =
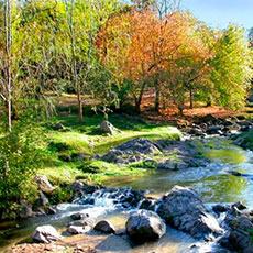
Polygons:
M252 51L244 30L230 25L220 33L210 62L212 96L216 102L231 109L245 105L246 90L252 78Z

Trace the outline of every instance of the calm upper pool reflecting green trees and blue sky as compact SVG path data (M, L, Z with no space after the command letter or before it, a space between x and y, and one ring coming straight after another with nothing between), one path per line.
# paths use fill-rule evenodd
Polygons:
M244 201L253 208L253 180L237 177L229 172L253 174L253 154L232 145L226 139L206 139L196 141L196 146L211 160L206 167L177 172L157 172L146 177L112 178L109 186L132 186L134 189L148 189L151 196L161 196L175 185L196 189L205 202ZM223 148L222 148L223 147Z

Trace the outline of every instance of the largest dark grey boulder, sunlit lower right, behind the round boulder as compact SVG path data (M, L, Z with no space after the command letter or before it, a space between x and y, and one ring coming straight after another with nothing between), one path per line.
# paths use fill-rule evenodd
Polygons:
M175 186L158 204L157 213L172 227L204 238L208 233L219 234L217 219L208 212L198 194L187 187Z

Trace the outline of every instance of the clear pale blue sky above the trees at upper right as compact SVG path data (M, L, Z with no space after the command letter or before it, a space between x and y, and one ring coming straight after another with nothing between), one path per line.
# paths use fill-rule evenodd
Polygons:
M253 28L253 0L182 0L182 7L212 28L229 23Z

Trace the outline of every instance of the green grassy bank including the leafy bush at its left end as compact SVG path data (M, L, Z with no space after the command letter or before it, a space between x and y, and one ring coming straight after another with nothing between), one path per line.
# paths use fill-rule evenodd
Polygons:
M180 132L169 125L152 125L134 117L112 116L109 121L120 130L113 135L102 133L101 116L86 117L79 123L76 114L66 113L35 123L19 121L11 133L0 138L0 219L14 219L23 210L22 201L36 206L35 175L45 175L58 186L48 196L50 204L72 197L69 183L82 179L101 185L111 177L144 176L154 172L151 164L139 162L123 166L95 158L134 138L178 140ZM56 130L56 123L62 128ZM58 124L59 125L59 124Z

